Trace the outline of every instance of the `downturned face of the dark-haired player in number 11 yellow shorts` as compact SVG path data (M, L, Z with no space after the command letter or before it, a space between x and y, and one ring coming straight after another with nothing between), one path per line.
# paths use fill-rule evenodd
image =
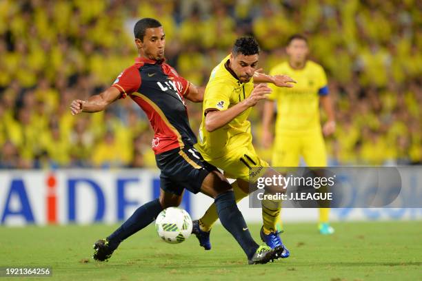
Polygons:
M230 54L230 67L239 78L241 83L249 82L257 70L259 54L251 54L245 56L244 54L237 54L234 56Z

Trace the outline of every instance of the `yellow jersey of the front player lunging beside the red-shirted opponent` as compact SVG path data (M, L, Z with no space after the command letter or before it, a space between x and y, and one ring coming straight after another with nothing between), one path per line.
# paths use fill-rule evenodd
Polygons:
M250 122L248 121L252 107L214 132L208 132L205 129L205 112L207 110L227 110L248 98L254 90L253 78L248 83L241 83L228 68L229 57L226 56L219 65L214 67L205 88L202 122L199 127L198 143L195 146L205 160L219 158L234 151L239 145L252 143Z

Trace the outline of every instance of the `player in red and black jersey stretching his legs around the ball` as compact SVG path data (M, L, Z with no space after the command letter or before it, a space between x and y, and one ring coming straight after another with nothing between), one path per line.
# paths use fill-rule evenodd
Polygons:
M239 242L249 264L274 260L283 249L259 246L253 240L227 179L193 148L197 138L189 125L185 99L201 102L203 89L165 63L165 34L159 21L139 20L134 37L139 52L134 65L125 69L108 90L87 101L72 101L70 110L73 115L99 112L119 98L130 96L154 129L152 149L161 170L161 191L159 198L139 207L108 238L95 242L93 258L108 260L123 240L148 226L163 209L178 206L184 189L188 189L214 198L221 224Z

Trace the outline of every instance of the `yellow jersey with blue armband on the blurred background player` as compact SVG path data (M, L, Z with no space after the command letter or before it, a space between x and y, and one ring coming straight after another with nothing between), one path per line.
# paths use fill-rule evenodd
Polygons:
M270 75L284 74L292 77L294 87L277 87L268 84L270 100L277 101L275 134L292 134L321 129L319 123L319 96L328 94L327 76L321 65L307 61L301 70L295 70L288 62L276 65Z

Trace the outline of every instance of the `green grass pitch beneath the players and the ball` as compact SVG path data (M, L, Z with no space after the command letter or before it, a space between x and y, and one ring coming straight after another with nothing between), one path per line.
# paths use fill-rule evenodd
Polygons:
M315 223L287 223L288 259L248 265L237 242L217 225L212 250L191 236L167 244L154 226L121 244L109 262L91 259L92 244L116 225L0 227L0 266L52 267L50 278L1 280L422 280L422 222L338 222L321 236ZM260 225L250 225L259 239Z

